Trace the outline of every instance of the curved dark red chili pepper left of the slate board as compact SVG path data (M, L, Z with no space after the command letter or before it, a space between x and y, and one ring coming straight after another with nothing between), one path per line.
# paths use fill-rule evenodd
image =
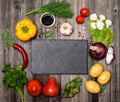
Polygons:
M17 49L22 54L22 58L23 58L22 70L24 70L28 65L28 55L26 51L24 50L24 48L20 46L19 44L14 43L13 48Z

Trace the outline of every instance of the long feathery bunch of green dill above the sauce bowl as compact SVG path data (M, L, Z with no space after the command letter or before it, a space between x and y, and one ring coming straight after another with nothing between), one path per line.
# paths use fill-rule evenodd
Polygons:
M28 16L28 15L38 14L38 13L45 13L45 12L49 12L57 17L62 17L62 18L72 18L73 16L73 13L70 9L70 4L65 1L50 2L28 13L25 13L24 15Z

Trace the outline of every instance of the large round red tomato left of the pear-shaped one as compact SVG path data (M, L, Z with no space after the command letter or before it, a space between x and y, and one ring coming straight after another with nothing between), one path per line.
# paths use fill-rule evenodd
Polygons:
M26 88L31 96L38 96L42 92L42 84L37 79L28 81Z

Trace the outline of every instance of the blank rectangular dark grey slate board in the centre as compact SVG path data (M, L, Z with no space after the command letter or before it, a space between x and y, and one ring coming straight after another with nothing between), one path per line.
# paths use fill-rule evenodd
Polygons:
M87 40L32 40L32 74L87 74Z

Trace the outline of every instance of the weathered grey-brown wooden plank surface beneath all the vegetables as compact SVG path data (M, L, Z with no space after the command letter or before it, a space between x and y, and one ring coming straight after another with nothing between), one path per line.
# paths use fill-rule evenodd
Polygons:
M15 24L23 19L23 14L31 9L38 7L39 5L43 5L50 1L62 1L62 0L0 0L0 34L3 32L5 27L10 26L11 32L15 35ZM84 82L87 79L90 79L89 75L32 75L30 73L30 64L26 70L27 76L29 79L37 78L43 82L43 84L47 81L47 79L51 76L55 77L61 86L61 92L63 92L63 88L69 80L75 78L76 76L80 76L83 78L83 84L81 86L81 91L75 97L71 99L63 99L61 102L120 102L120 2L119 0L67 0L71 3L71 8L74 12L74 16L72 19L58 19L53 28L50 30L56 33L56 39L81 39L82 36L79 37L78 32L82 32L86 35L86 37L90 41L90 32L87 28L87 20L89 17L85 18L85 23L82 25L76 24L75 17L79 14L79 10L82 7L88 7L91 13L103 14L108 19L113 21L112 30L115 33L115 39L113 42L113 46L115 48L116 58L111 65L106 65L105 61L100 61L103 63L105 69L110 70L112 73L112 79L105 90L102 96L89 94L84 87ZM44 28L39 23L40 14L34 16L28 16L27 18L32 19L34 23L37 25L38 31L35 39L39 39L40 33L44 30ZM65 21L70 22L74 25L74 33L65 37L62 36L59 32L60 23ZM29 42L21 42L16 39L16 42L22 45L27 51L30 58L30 41ZM18 65L22 63L21 55L15 51L14 49L7 50L5 44L1 41L0 38L0 102L20 102L19 98L12 93L11 90L4 90L2 84L3 73L1 72L2 67L5 63L10 62L12 66ZM90 57L88 58L89 68L95 63ZM25 102L53 102L54 98L49 98L44 95L39 97L31 97L26 88L24 88L24 97Z

